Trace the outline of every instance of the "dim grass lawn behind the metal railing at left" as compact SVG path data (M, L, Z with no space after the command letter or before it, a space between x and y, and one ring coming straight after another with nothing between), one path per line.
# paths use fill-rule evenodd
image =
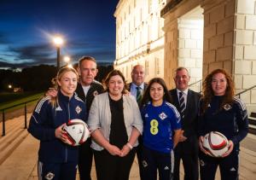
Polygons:
M6 96L9 96L8 98L6 98ZM3 97L5 97L5 99L9 99L9 101L7 102L0 102L0 109L6 108L6 107L12 107L15 106L16 104L20 104L23 102L29 102L32 101L34 99L38 99L40 97L44 96L44 92L28 92L28 93L2 93L0 94L0 99L2 100ZM38 101L34 101L34 102L29 102L27 105L30 105L32 103L36 103ZM19 109L20 107L24 107L23 105L20 105L18 107L13 107L7 110L7 112L9 111L13 111L15 109Z

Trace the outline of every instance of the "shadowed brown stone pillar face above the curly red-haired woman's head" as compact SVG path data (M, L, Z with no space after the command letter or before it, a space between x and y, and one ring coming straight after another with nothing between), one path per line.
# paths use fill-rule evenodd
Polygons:
M216 68L233 73L233 42L236 0L205 0L203 77Z

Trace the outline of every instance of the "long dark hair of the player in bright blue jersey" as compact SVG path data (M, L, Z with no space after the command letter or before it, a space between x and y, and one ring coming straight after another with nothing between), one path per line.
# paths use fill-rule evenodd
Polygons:
M150 88L151 88L152 84L154 84L154 83L158 83L163 87L164 93L165 93L164 96L163 96L163 100L166 101L166 102L172 103L172 97L170 96L170 93L167 89L167 86L166 86L166 83L165 83L164 79L162 79L162 78L151 78L149 83L148 83L148 87L147 87L146 91L143 94L143 99L142 99L142 102L140 104L140 107L143 107L148 102L152 101L152 98L150 96Z

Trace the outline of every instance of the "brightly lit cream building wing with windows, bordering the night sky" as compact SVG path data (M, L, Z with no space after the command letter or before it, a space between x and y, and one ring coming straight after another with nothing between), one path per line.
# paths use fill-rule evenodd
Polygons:
M113 65L131 81L131 69L145 67L146 81L163 77L165 33L160 10L166 0L120 0L116 17L116 60Z

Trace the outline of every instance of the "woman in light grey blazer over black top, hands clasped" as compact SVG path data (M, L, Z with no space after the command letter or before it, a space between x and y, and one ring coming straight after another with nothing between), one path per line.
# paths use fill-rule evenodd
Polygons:
M108 73L105 93L95 97L90 107L91 130L98 180L128 180L137 137L143 120L133 96L125 94L125 78L119 70Z

